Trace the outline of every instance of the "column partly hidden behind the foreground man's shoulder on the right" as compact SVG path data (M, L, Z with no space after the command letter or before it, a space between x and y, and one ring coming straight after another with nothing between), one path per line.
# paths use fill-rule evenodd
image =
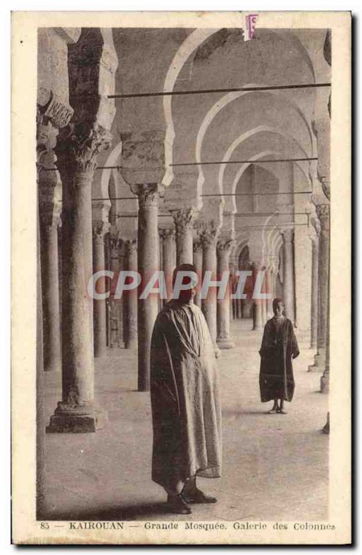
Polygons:
M218 230L207 228L200 233L200 241L202 244L202 275L205 279L205 272L211 271L211 279L216 280L216 241ZM214 350L218 354L216 345L216 288L210 287L207 297L201 300L202 312L204 313L209 332L214 343Z

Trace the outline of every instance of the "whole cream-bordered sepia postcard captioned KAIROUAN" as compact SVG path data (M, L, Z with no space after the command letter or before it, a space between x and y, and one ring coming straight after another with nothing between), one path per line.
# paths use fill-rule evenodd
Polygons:
M350 96L350 12L13 12L13 543L351 543Z

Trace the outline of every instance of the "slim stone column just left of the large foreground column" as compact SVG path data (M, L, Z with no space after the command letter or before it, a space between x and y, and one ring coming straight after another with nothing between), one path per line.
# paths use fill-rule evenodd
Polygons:
M44 370L60 370L60 305L58 225L60 207L40 204L40 256L42 266L42 312Z

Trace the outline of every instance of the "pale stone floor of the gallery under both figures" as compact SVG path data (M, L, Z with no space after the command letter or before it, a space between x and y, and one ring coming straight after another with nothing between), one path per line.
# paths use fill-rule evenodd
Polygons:
M327 396L307 373L313 352L300 344L295 398L286 415L259 400L261 334L232 323L236 348L218 359L223 399L223 477L200 479L218 497L191 516L164 512L164 492L150 480L152 427L148 393L138 393L137 354L109 350L96 361L96 399L108 425L95 434L47 434L48 520L323 520L327 518L328 436L320 432ZM60 400L60 375L46 374L46 413Z

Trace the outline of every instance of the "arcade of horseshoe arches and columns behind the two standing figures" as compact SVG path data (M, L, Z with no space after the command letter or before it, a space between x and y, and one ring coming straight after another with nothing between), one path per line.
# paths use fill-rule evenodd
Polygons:
M230 270L230 291L237 270L264 270L264 291L284 298L315 355L305 372L328 392L330 88L318 85L330 83L329 48L325 29L257 29L248 42L234 28L39 30L44 370L62 375L49 431L105 424L94 361L110 352L121 373L138 349L132 372L148 390L160 301L92 300L87 283L104 268L169 276L193 262ZM313 86L268 89L295 84ZM162 91L173 94L137 96ZM272 313L250 294L196 302L220 360Z

